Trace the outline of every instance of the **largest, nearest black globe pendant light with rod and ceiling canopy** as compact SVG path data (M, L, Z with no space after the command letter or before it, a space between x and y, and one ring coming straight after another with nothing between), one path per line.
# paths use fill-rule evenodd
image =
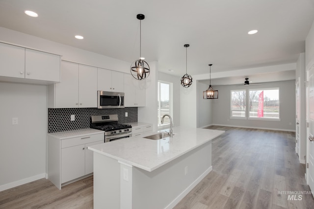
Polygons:
M140 21L139 22L139 59L135 60L131 64L131 75L137 80L143 80L149 76L150 68L147 62L144 61L144 57L141 57L141 21L144 20L145 15L138 14L136 18Z

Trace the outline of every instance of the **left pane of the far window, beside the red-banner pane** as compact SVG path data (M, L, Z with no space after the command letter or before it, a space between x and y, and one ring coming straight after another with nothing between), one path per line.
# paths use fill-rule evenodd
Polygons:
M231 91L231 116L245 117L246 112L246 91Z

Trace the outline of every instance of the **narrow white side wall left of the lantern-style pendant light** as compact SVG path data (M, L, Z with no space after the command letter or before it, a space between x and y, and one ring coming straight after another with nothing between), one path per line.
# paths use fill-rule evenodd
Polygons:
M212 102L216 99L203 99L203 92L209 84L197 81L197 127L204 128L212 124Z

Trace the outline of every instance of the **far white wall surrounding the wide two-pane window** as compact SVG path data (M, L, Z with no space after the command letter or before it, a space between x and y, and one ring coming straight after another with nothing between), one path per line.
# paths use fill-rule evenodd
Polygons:
M250 89L277 88L279 87L280 119L281 121L232 119L231 90L245 90L248 86L215 86L219 91L219 98L213 102L212 122L216 125L235 127L250 127L262 129L275 129L295 131L295 80L262 83L259 86L251 86Z

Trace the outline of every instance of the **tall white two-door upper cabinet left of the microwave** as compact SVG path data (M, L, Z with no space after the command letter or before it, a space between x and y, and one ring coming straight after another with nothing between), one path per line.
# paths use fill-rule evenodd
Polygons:
M97 107L97 68L61 62L62 81L48 87L50 108Z

